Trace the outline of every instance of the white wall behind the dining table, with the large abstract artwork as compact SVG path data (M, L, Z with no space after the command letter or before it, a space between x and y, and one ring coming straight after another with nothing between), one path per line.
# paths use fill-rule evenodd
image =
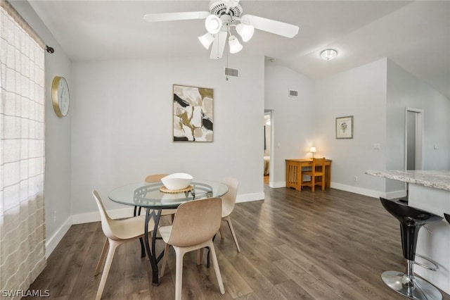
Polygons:
M264 199L264 57L207 56L72 65L72 214L97 211L91 190L108 192L151 173L240 180L238 201ZM172 85L214 89L214 142L172 142ZM112 201L105 206L120 208Z

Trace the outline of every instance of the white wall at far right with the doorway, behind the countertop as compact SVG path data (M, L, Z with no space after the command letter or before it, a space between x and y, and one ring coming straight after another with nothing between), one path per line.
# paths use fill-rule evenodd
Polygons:
M404 168L405 108L423 110L423 170L450 170L450 101L391 60L387 60L386 168ZM437 149L435 149L435 145ZM387 181L388 192L404 189Z

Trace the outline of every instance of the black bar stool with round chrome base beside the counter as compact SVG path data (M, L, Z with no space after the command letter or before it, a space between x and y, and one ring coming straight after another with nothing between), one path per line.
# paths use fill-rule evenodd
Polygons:
M391 289L394 289L395 292L411 299L442 299L442 294L434 285L421 278L414 277L413 272L416 255L420 256L416 254L417 237L420 227L427 223L440 221L442 217L426 211L420 211L417 208L406 205L402 201L387 200L384 198L380 198L380 201L386 211L400 222L401 249L406 259L406 272L385 271L381 275L383 282ZM430 268L420 263L416 263L417 265L421 265L430 270L437 270L437 265L434 262L423 256L420 257L430 261L430 263L435 265L435 268Z

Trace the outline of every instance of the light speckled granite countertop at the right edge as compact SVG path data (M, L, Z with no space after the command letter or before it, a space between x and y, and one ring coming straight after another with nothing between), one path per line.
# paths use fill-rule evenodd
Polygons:
M450 192L449 170L368 170L366 174L408 182L414 185L444 189Z

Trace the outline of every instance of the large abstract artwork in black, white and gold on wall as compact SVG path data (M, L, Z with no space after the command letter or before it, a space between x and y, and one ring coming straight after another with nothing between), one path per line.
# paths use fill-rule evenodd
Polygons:
M173 86L174 142L212 142L214 90Z

